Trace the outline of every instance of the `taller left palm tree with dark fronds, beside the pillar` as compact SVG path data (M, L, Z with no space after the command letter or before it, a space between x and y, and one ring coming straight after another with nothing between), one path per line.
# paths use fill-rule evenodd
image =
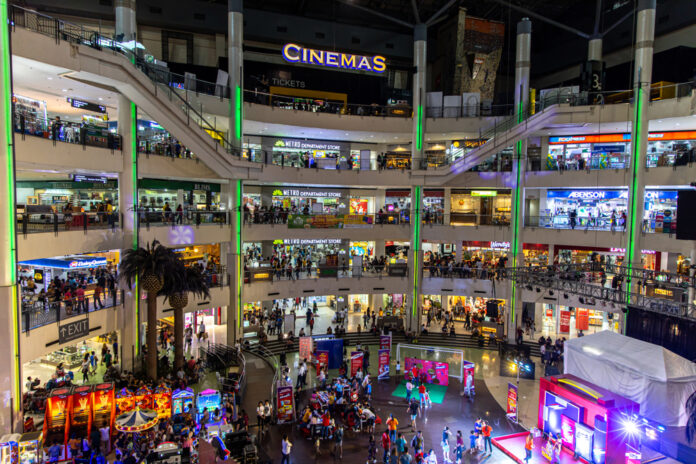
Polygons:
M121 278L129 287L138 280L147 293L147 375L157 379L157 295L176 271L178 257L157 240L146 248L128 249L121 258ZM137 295L136 295L137 298ZM136 321L136 324L139 324Z

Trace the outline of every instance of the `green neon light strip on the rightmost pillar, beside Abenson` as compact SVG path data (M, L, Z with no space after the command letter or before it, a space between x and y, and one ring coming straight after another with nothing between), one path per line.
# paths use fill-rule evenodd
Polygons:
M638 190L638 175L640 169L640 145L642 141L643 131L643 85L638 82L638 88L635 92L635 103L633 105L633 124L634 134L631 137L631 192L629 194L629 210L631 211L631 220L628 229L628 243L626 244L626 259L629 273L633 270L633 250L636 248L638 241L639 222L641 221L638 205L642 203L642 199L637 198L636 191ZM630 274L629 274L630 275ZM631 279L626 282L626 305L630 303L631 295ZM626 317L628 317L628 308L626 308ZM626 324L624 324L624 332Z

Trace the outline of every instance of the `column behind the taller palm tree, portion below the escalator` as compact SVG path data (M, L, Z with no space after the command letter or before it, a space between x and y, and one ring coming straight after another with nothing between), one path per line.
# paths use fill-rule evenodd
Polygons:
M118 131L123 144L123 170L118 178L119 211L123 228L123 250L137 248L138 242L138 152L136 149L137 109L128 98L118 98ZM123 311L118 312L119 347L123 369L133 370L140 356L140 299L137 284L124 290Z

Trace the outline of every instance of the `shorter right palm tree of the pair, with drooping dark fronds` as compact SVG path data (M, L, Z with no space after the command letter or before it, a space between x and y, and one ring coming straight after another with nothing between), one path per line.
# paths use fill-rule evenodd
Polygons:
M174 369L178 371L184 365L184 308L188 305L188 295L210 298L208 282L196 266L185 267L183 261L177 260L172 278L166 279L160 295L169 299L174 309Z

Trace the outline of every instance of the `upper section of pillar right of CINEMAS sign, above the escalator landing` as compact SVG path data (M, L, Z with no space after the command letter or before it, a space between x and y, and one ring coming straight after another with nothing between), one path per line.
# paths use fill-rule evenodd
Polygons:
M424 159L425 136L425 82L427 68L428 26L416 24L413 32L413 143L411 144L411 166L419 169Z

